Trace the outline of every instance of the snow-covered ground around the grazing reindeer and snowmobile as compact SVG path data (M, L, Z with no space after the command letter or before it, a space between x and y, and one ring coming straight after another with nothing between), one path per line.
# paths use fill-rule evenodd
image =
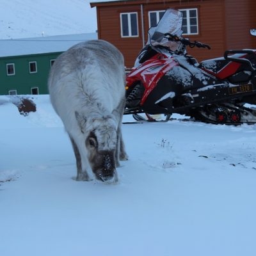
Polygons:
M256 125L124 124L119 184L77 182L48 95L34 101L25 117L0 97L0 255L256 255Z

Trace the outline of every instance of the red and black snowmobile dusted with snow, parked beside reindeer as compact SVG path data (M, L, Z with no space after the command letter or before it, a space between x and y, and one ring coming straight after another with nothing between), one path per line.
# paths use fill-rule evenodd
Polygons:
M126 78L125 114L180 113L214 124L256 123L256 50L226 51L198 63L186 47L211 49L182 35L182 13L168 9L148 31L147 45ZM256 31L252 29L253 35ZM246 106L245 106L246 105Z

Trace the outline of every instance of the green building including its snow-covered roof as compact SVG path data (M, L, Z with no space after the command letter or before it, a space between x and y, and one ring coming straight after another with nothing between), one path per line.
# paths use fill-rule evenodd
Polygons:
M0 95L47 94L54 60L72 45L92 39L96 33L0 40Z

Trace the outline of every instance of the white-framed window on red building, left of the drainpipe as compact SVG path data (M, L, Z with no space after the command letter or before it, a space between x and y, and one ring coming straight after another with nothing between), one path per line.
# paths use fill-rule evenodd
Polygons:
M122 37L139 36L138 13L120 13Z

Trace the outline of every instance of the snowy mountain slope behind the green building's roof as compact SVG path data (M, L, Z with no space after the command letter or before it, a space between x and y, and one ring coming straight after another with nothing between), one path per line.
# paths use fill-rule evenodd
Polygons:
M0 0L0 39L93 33L89 0Z

